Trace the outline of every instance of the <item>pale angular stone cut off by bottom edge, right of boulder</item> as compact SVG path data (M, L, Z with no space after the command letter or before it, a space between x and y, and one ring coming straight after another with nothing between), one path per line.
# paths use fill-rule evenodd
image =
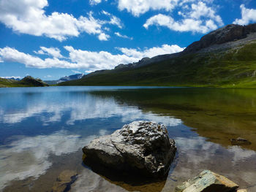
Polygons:
M188 180L175 189L176 192L229 192L235 191L239 186L226 177L205 170L192 180Z

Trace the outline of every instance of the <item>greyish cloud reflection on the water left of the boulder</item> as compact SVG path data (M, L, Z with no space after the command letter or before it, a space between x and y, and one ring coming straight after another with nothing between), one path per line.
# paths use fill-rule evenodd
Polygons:
M99 134L104 134L102 130ZM50 155L66 155L79 150L94 139L73 135L67 131L58 131L50 135L24 137L10 145L0 148L0 190L11 180L24 180L26 177L37 179L52 166Z

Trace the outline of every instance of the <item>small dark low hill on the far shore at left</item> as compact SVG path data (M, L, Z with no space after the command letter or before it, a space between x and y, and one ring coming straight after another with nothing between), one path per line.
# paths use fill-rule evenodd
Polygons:
M40 79L35 79L34 77L27 76L22 80L12 80L0 78L0 88L6 87L45 87L49 86L47 83Z

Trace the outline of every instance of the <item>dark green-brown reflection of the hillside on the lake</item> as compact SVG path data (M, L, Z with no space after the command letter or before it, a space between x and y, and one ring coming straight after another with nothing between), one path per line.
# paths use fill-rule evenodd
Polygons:
M256 90L177 88L151 90L93 91L101 98L114 98L120 105L143 112L172 116L193 128L208 141L225 147L230 139L243 137L256 150Z

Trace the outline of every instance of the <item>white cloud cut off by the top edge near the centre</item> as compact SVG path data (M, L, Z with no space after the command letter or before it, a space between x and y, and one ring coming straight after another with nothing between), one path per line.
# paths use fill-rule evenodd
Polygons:
M127 9L127 12L131 12L132 15L138 17L150 9L170 11L176 7L177 3L178 0L118 0L118 9L121 11Z

